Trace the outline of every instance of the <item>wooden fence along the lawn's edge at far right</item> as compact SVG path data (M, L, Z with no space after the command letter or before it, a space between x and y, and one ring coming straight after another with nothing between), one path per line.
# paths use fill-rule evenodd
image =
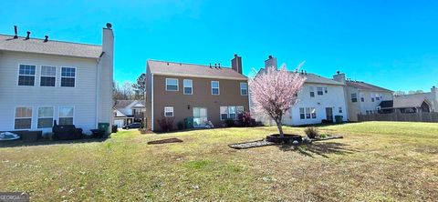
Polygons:
M438 112L432 113L391 113L391 114L370 114L358 115L362 121L410 121L410 122L433 122L438 123Z

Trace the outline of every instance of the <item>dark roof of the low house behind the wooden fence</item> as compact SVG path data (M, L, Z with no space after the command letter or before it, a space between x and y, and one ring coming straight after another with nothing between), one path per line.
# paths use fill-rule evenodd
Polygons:
M430 104L430 100L424 94L413 94L405 96L394 96L394 100L391 103L381 102L381 108L410 108L421 107L423 102Z

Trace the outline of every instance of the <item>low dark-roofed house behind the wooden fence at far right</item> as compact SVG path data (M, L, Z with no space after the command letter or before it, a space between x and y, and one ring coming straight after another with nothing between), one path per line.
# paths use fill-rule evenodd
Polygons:
M394 96L393 101L381 102L381 113L419 113L436 112L438 106L437 88L432 87L430 93Z

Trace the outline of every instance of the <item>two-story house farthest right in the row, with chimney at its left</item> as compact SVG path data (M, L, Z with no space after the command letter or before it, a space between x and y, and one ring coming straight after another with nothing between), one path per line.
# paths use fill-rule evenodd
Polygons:
M333 78L346 84L349 121L358 121L358 115L378 113L381 101L392 100L393 92L386 88L362 81L347 80L345 74L339 72Z

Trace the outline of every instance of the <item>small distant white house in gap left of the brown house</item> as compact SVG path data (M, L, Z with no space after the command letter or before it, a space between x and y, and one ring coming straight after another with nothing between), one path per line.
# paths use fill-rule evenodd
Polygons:
M144 100L116 100L114 105L114 125L119 127L131 123L141 123L144 118Z

